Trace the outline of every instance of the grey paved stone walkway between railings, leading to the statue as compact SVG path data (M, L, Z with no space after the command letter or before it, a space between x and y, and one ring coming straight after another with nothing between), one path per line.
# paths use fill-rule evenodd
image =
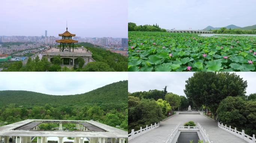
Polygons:
M188 115L176 113L174 117L162 121L160 126L155 130L149 131L141 136L136 137L129 141L129 143L165 143L168 139L168 134L174 127L181 123L181 126L188 122L194 121L195 123L200 123L202 127L209 134L210 141L213 143L247 143L246 141L240 139L227 131L222 130L218 127L218 123L202 115Z

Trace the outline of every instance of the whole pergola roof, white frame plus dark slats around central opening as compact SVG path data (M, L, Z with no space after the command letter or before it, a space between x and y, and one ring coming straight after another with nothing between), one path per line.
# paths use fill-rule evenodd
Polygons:
M31 130L39 123L79 123L91 131L40 131ZM37 136L37 137L109 137L127 138L128 132L96 121L82 120L36 120L28 119L0 127L0 136Z

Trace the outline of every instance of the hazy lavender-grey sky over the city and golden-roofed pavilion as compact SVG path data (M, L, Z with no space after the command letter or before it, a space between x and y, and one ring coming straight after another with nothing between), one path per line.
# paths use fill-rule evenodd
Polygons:
M1 0L0 35L128 37L127 0Z

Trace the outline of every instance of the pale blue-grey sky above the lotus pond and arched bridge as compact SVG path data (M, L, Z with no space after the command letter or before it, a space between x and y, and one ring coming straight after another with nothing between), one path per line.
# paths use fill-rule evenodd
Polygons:
M256 24L256 0L129 0L128 21L165 29Z

